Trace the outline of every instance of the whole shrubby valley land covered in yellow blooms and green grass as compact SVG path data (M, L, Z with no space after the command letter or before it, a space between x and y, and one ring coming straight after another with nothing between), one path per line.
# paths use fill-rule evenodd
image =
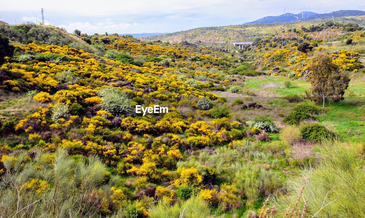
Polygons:
M336 20L241 50L0 26L0 217L362 217L365 31Z

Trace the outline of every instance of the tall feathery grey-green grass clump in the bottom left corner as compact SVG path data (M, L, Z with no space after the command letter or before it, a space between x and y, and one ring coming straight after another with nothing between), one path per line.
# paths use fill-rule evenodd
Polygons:
M26 153L10 157L3 161L0 217L95 217L100 202L92 192L108 190L115 181L104 184L106 166L97 157L76 161L65 150L55 156L38 151L27 161ZM32 180L42 183L27 186Z

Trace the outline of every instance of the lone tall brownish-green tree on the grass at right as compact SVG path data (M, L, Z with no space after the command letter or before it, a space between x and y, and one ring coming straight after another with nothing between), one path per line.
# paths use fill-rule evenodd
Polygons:
M318 53L312 58L308 69L311 71L312 85L311 92L306 91L308 98L316 102L323 101L323 108L326 99L330 102L343 100L343 94L349 87L350 79L332 62L330 55Z

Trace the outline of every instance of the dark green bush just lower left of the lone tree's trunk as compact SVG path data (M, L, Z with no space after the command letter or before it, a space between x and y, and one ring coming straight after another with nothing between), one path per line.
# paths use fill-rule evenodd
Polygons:
M312 114L318 114L319 112L320 110L315 106L307 103L299 104L290 111L288 116L284 118L283 122L290 125L297 125L304 120L316 119L312 116Z

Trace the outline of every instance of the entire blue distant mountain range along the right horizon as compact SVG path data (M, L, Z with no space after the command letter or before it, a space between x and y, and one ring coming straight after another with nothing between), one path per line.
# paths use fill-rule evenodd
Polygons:
M245 24L253 24L253 23L280 23L280 22L296 22L296 21L309 21L315 19L326 19L326 18L337 18L337 17L344 17L344 16L361 16L365 15L365 11L359 10L340 10L340 11L333 11L327 14L317 14L315 12L304 11L303 18L302 14L292 14L286 13L285 15L279 16L266 16L264 18L260 18L253 22L248 22Z

